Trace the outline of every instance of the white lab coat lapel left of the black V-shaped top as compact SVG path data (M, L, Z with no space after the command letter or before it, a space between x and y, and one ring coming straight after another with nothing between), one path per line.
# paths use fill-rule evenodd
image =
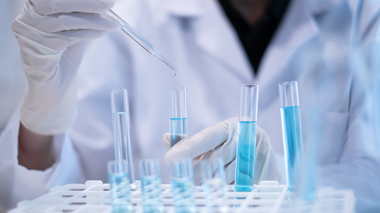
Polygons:
M252 79L252 71L233 26L215 0L168 0L167 11L178 18L192 18L197 47L234 72L240 79ZM182 1L186 1L184 6ZM248 83L248 82L247 82Z

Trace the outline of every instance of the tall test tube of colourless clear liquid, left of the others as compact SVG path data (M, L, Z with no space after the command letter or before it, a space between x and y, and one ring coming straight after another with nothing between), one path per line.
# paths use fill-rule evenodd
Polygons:
M131 120L127 89L111 91L112 121L114 128L115 159L127 160L130 183L134 183Z

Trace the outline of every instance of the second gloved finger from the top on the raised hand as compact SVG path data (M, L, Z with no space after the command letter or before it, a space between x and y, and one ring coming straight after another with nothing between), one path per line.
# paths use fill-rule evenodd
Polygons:
M41 16L34 13L31 7L31 5L25 5L23 12L16 20L44 33L77 29L113 30L117 27L109 16L102 13L77 12Z

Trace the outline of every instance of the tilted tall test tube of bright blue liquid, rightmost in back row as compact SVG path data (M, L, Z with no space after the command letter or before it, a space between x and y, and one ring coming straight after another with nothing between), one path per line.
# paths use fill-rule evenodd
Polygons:
M304 164L297 81L279 84L285 172L289 191L296 191Z

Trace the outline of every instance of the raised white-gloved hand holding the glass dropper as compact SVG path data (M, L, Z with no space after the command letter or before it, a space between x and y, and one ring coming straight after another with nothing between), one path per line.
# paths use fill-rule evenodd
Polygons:
M40 134L58 134L76 117L76 71L82 40L116 28L101 12L114 0L27 0L12 29L21 52L28 90L21 123Z

